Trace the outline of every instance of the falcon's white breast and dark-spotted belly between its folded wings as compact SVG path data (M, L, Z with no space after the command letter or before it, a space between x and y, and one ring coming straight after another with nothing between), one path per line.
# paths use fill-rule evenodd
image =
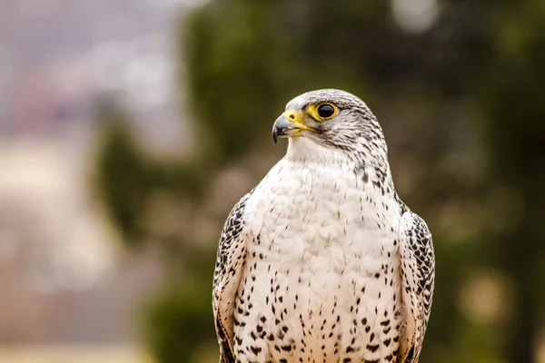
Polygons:
M398 208L349 169L279 162L244 211L251 222L235 340L280 363L395 354Z

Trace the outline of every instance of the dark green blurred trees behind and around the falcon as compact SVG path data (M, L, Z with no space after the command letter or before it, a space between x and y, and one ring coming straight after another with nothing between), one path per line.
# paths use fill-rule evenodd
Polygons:
M545 361L543 4L216 0L193 11L178 65L196 121L190 152L150 155L108 108L97 169L127 246L160 246L168 263L170 287L145 316L159 360L217 357L223 221L282 156L270 129L283 104L338 87L377 115L401 198L434 236L421 361Z

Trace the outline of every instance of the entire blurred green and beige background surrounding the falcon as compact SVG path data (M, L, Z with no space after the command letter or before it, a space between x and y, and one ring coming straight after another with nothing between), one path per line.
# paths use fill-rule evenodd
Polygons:
M0 362L215 363L228 212L361 96L437 255L421 362L545 362L545 2L0 2Z

